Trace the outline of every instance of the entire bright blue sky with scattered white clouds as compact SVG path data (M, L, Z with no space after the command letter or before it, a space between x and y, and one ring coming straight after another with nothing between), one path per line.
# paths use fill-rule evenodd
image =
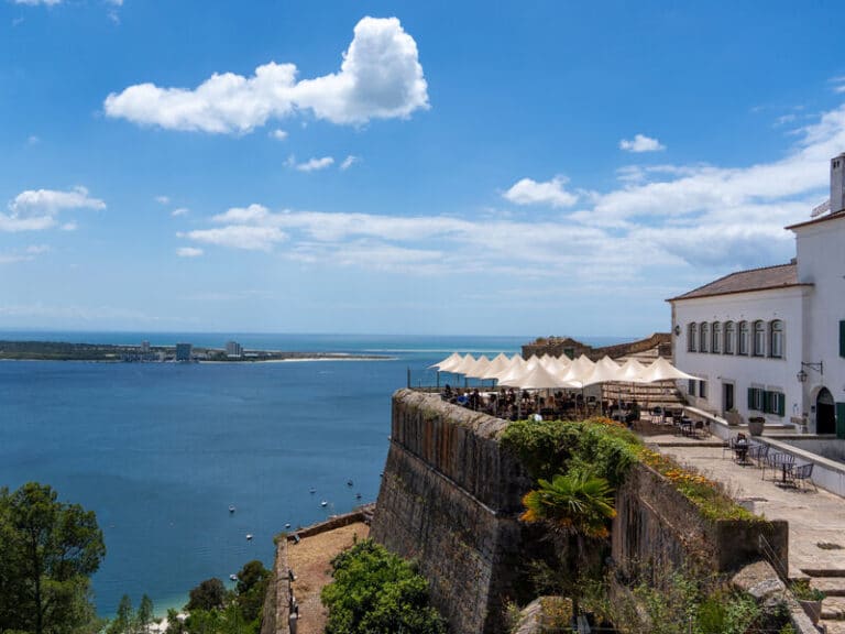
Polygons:
M845 3L0 0L0 328L640 337L788 262Z

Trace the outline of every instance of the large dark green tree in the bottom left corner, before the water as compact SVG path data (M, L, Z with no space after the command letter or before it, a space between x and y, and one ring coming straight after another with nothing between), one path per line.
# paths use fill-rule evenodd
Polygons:
M0 632L65 634L96 621L89 577L106 546L94 512L37 482L0 489Z

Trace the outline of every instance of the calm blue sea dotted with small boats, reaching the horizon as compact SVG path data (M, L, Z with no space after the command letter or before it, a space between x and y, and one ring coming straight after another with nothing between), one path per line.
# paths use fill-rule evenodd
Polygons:
M234 339L244 348L389 357L0 362L0 487L48 483L63 501L97 513L108 553L95 600L112 615L124 593L135 605L147 593L156 612L180 606L204 579L228 583L250 559L268 566L286 523L296 528L374 501L391 394L408 370L414 385L434 384L426 368L456 350L513 353L531 338L0 331L0 339L220 348Z

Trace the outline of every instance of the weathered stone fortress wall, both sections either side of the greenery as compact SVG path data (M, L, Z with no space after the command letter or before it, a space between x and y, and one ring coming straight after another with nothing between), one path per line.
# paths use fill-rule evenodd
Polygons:
M498 442L507 423L435 394L393 397L391 448L371 535L419 561L435 605L454 634L505 631L504 605L519 594L524 565L549 540L518 521L531 485ZM711 522L674 487L637 464L618 491L613 556L623 576L648 566L733 570L760 559L759 536L787 561L784 522Z

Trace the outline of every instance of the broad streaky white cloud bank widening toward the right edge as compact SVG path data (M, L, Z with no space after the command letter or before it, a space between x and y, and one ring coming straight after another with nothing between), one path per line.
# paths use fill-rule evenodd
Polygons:
M566 277L568 288L632 288L668 297L740 267L794 255L783 227L827 196L830 158L845 147L845 106L799 130L778 158L744 166L627 166L607 192L567 192L557 177L520 181L504 196L546 204L530 219L271 210L253 204L179 234L195 244L273 251L301 266L402 274L496 275L519 283ZM517 184L519 185L519 184ZM545 186L545 187L541 187ZM561 212L557 207L581 207ZM659 283L655 281L659 280ZM591 291L593 288L593 291Z

